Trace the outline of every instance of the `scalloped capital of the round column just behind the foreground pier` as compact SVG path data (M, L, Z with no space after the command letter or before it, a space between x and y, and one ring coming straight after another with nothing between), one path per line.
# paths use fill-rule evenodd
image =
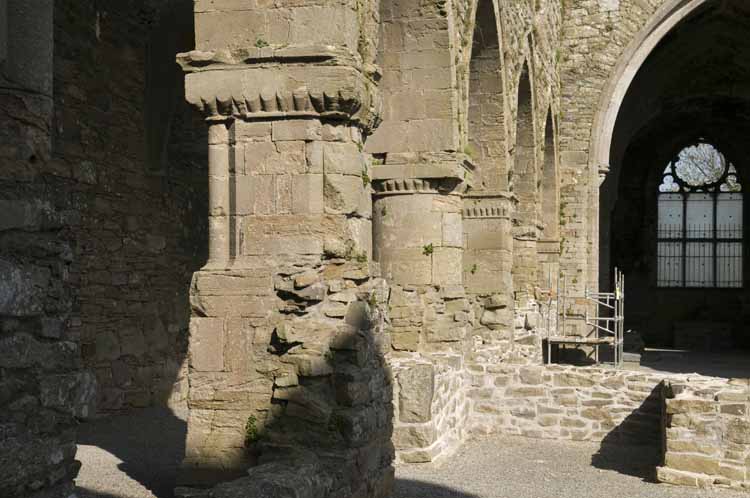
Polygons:
M454 152L388 154L372 168L375 195L465 195L473 182L474 165L469 157Z

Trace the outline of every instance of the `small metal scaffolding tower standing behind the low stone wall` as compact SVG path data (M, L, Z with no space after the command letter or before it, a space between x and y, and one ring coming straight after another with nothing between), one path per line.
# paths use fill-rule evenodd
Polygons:
M589 327L586 336L568 334L566 327L570 318L568 302L576 298L568 295L567 278L563 275L558 280L557 295L557 327L553 331L548 328L547 334L547 363L552 363L552 346L589 347L594 352L594 362L601 363L600 348L612 348L612 364L622 366L625 346L625 275L615 268L614 286L612 292L592 292L588 289L584 293L585 312L584 323ZM549 309L552 307L550 306ZM590 309L596 310L594 316ZM548 323L550 320L548 319ZM554 332L554 333L553 333Z

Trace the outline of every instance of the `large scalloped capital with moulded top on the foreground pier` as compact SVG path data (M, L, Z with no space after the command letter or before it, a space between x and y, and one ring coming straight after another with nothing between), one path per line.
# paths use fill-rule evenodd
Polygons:
M377 126L377 87L345 54L309 47L247 52L178 55L188 73L185 97L207 119L319 117Z

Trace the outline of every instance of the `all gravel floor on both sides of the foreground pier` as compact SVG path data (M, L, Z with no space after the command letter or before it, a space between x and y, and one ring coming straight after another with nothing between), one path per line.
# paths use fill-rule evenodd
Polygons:
M85 424L81 498L171 498L184 451L184 413L149 409ZM401 466L393 498L748 498L653 483L657 455L641 447L492 436L453 457Z

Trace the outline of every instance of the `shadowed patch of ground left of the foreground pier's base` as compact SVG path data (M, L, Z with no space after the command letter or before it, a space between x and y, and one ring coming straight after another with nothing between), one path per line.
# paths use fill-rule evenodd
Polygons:
M82 424L78 429L78 444L95 446L114 455L122 461L117 468L150 490L156 498L172 498L177 470L185 455L186 434L184 413L168 408L145 408ZM81 480L88 482L88 479L80 478L84 474L91 475L94 470L86 466L97 465L87 461L83 464L79 484ZM96 485L102 492L89 490L91 496L113 496L104 490L110 484L116 489L118 483L100 483L99 479L97 476ZM116 480L117 475L108 474L101 479ZM86 485L82 485L84 496Z

